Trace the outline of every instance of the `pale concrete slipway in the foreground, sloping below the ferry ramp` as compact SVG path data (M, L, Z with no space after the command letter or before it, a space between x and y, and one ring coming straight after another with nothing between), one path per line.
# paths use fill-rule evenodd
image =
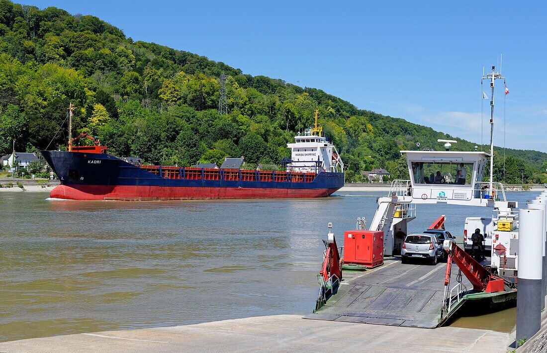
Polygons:
M174 327L81 333L0 343L2 352L507 352L514 334L422 329L272 315Z

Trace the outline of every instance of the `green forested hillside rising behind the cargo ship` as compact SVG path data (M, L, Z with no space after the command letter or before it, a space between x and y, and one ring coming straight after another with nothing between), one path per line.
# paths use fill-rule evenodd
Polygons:
M126 38L94 16L0 1L0 153L62 148L66 108L75 130L99 136L110 153L187 166L245 156L279 163L295 131L319 109L347 179L384 167L404 177L400 149L440 148L426 126L360 110L322 90L250 76L206 57ZM218 114L219 77L228 77L228 114ZM461 141L455 149L473 150ZM501 151L498 149L498 152ZM547 154L508 149L505 181L547 182ZM497 179L503 171L497 160Z

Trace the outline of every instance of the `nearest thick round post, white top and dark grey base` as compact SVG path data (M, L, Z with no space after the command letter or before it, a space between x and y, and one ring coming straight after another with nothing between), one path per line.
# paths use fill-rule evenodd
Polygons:
M543 211L519 211L519 290L516 300L516 341L539 331L542 316Z

